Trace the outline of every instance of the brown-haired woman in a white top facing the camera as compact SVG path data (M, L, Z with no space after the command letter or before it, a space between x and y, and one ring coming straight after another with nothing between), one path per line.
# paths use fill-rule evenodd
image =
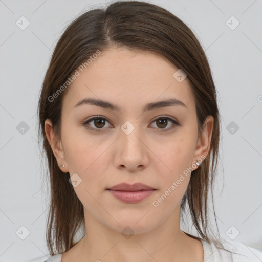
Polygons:
M178 17L138 1L82 14L56 45L38 111L52 261L262 259L211 227L220 115ZM197 235L181 230L184 214Z

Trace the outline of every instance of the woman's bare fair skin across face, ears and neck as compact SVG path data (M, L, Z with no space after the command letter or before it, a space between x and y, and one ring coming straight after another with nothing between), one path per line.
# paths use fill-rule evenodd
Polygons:
M173 77L177 70L155 54L111 48L84 69L64 96L58 143L52 122L46 120L47 138L59 168L82 179L74 190L84 207L87 237L63 253L62 262L203 262L202 243L180 229L180 202L190 172L158 207L152 205L186 168L197 169L193 164L207 156L210 148L213 117L207 117L198 138L189 82L187 78L178 82ZM121 111L89 104L74 108L84 98L110 101ZM183 101L187 108L176 105L142 113L146 103L169 98ZM83 125L95 116L108 122L86 125L101 127L101 132ZM181 126L164 132L163 127L170 128L172 122L165 126L155 121L162 116L177 120ZM126 121L135 127L129 135L121 130ZM121 182L142 182L157 190L139 203L128 204L106 190ZM128 239L121 234L126 226L134 231Z

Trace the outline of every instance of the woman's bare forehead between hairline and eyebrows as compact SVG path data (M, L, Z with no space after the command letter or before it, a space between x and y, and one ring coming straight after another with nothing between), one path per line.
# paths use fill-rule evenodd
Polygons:
M80 75L69 86L64 104L73 108L81 99L93 97L110 100L121 108L127 104L141 104L142 108L145 103L177 98L189 108L193 102L189 81L185 78L179 82L174 78L177 71L178 68L159 55L111 48L79 71Z

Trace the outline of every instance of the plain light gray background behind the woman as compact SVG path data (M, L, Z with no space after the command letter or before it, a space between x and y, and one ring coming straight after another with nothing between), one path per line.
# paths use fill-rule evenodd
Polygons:
M225 239L238 230L235 241L262 250L262 1L150 3L181 18L206 51L223 117L214 201L217 222ZM65 27L100 4L107 5L105 1L0 0L0 261L28 261L48 254L48 191L41 189L45 171L40 168L36 132L38 94ZM25 30L16 25L21 16L30 21ZM229 28L236 25L231 16L240 23L234 30ZM17 130L22 121L29 126L25 134ZM239 126L237 131L233 127L234 134L227 130L232 121ZM17 236L26 232L21 226L30 232L25 240Z

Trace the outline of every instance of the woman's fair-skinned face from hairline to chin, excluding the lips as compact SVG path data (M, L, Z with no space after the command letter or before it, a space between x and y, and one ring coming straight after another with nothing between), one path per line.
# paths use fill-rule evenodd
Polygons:
M137 233L158 227L170 216L179 219L190 172L208 154L213 118L207 118L207 132L198 139L189 82L185 75L178 77L177 70L150 53L110 49L79 71L69 87L62 104L61 143L52 149L58 164L64 164L61 170L70 173L85 218L118 232L128 226ZM77 105L83 99L107 101L119 110ZM158 104L169 99L181 102ZM93 117L97 119L85 123ZM123 182L155 190L128 203L107 190Z

